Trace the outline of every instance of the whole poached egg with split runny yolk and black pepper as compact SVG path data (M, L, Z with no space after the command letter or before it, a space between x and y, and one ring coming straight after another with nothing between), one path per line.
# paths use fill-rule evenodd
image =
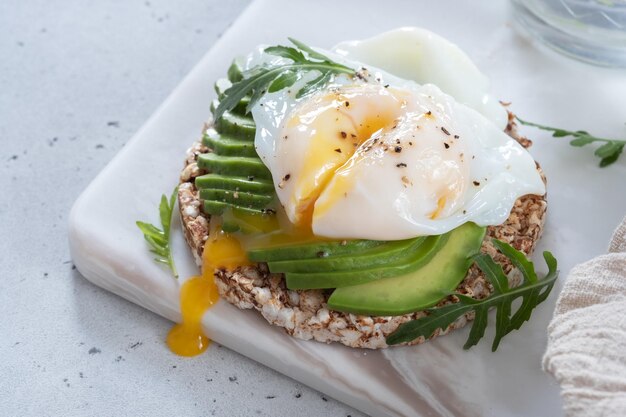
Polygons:
M262 48L251 68L284 58ZM252 109L255 146L290 222L316 236L398 240L472 221L501 224L517 198L545 193L530 154L503 131L505 109L455 45L403 28L334 52L352 67L296 99L317 74Z

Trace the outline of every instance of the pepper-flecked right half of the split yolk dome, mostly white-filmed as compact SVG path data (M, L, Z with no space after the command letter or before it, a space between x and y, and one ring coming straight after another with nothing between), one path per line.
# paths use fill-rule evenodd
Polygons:
M370 96L368 88L360 97L376 106L378 96ZM447 218L463 200L469 176L469 165L463 162L466 145L454 143L459 136L442 126L450 126L445 112L437 109L436 115L430 110L436 108L431 96L395 88L384 91L397 103L391 123L366 138L324 184L312 209L317 234L349 236L336 231L354 223L346 216L363 218L364 207L384 206L383 212L391 215L432 221ZM356 116L367 123L376 114ZM377 173L374 178L372 172ZM388 186L381 188L382 183Z

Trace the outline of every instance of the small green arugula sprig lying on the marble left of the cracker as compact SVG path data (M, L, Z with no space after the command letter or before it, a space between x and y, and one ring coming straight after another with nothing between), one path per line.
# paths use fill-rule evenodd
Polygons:
M143 237L148 242L148 245L150 245L150 252L156 255L154 260L167 265L176 278L178 278L178 272L176 271L176 265L174 265L174 258L172 257L170 248L170 226L177 194L178 187L174 188L174 192L172 192L172 196L169 200L165 194L161 196L159 217L161 218L163 230L149 223L136 222L137 227L143 232Z

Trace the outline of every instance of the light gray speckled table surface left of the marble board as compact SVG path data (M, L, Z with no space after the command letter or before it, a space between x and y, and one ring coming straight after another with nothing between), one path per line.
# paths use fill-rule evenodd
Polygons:
M72 266L70 207L247 0L0 2L0 416L361 416Z

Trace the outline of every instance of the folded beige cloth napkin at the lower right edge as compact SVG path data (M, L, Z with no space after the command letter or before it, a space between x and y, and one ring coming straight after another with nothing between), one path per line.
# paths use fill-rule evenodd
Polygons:
M608 254L570 272L543 369L561 384L568 417L626 416L626 218Z

